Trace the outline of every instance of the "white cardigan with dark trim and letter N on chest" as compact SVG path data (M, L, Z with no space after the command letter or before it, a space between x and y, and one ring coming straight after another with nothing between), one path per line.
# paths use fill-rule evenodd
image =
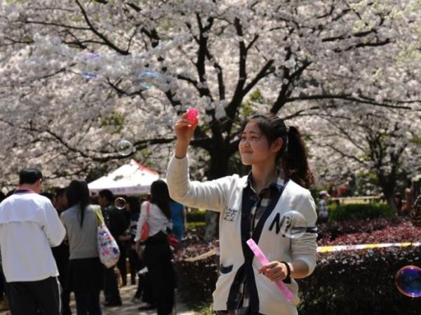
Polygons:
M226 273L220 274L213 292L213 309L226 310L229 290L237 270L244 263L241 247L241 203L247 176L232 175L198 182L189 180L188 158L173 157L168 166L168 189L175 201L194 208L220 212L220 264ZM272 213L267 218L258 246L269 261L303 260L308 264L309 274L316 267L316 234L305 233L298 239L288 239L276 229L276 220L288 210L297 210L305 216L309 227L315 227L316 210L310 192L289 180ZM273 224L275 222L275 224ZM272 229L270 229L272 225ZM232 267L231 267L232 266ZM258 274L262 264L254 258L253 271L259 297L259 311L265 315L294 315L297 308L288 302L275 284L266 276ZM294 279L288 288L298 294Z

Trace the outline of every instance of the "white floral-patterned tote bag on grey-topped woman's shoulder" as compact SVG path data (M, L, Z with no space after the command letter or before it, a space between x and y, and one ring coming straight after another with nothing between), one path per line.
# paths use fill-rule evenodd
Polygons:
M113 267L119 262L120 249L116 240L112 236L107 225L105 225L104 217L100 213L100 209L95 209L95 217L97 219L97 246L100 261L105 267Z

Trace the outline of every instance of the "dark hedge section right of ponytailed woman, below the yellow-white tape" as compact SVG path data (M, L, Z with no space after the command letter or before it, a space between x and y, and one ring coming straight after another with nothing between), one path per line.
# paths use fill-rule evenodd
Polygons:
M321 254L314 274L299 279L300 315L415 315L421 299L399 293L394 275L421 266L420 248L380 248Z

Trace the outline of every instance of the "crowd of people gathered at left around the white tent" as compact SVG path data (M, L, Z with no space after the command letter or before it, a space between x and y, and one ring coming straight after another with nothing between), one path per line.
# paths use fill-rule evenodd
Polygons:
M126 286L127 267L131 284L138 277L132 302L144 302L140 310L171 314L175 274L168 234L175 222L174 232L182 239L184 207L170 199L166 182L152 183L142 203L139 196L123 196L126 207L118 209L111 191L91 196L84 180L49 194L42 192L41 170L24 168L19 176L18 189L0 200L0 285L11 315L70 315L72 292L76 314L100 315L102 290L103 307L121 305L119 282ZM119 262L109 268L98 254L100 217L120 250ZM149 237L139 241L145 222Z

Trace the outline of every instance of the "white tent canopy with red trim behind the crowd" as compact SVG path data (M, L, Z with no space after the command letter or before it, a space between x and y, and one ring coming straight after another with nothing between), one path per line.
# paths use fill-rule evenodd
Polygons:
M131 160L112 173L88 184L91 193L109 189L113 194L140 195L149 194L152 182L159 179L158 173L142 164Z

